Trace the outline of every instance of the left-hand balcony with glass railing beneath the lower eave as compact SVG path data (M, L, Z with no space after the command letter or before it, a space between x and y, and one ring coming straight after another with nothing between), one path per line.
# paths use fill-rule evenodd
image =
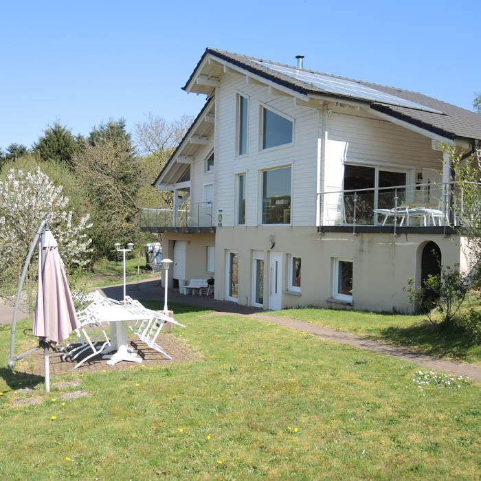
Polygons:
M188 208L144 208L139 211L140 230L144 232L215 232L212 202L192 203Z

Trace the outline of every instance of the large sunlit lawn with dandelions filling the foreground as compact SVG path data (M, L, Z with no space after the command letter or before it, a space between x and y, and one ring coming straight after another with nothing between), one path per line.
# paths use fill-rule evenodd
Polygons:
M479 384L423 396L410 363L172 307L187 328L162 335L203 361L84 374L91 395L65 406L0 396L2 480L479 478Z

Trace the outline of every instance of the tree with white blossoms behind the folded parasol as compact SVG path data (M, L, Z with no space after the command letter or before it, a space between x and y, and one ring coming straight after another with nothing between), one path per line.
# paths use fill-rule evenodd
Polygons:
M69 198L62 186L54 186L41 172L11 169L0 181L0 295L4 298L16 290L28 249L41 221L47 221L57 242L67 272L89 262L91 239L87 230L89 216L74 222L68 209ZM34 262L29 277L36 271ZM32 285L32 282L30 282Z

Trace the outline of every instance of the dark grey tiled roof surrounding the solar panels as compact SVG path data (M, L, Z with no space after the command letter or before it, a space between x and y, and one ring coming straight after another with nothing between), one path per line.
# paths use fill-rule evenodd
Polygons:
M199 65L201 64L203 58L208 55L214 55L223 60L227 60L228 62L237 65L247 71L251 71L253 74L257 74L263 78L268 80L272 80L280 85L284 85L284 87L289 87L294 91L298 91L299 93L322 93L325 96L330 96L335 98L342 99L342 95L336 95L333 93L326 92L319 87L315 87L315 85L308 84L306 82L302 82L301 80L297 80L290 76L281 74L278 71L273 71L267 67L259 65L258 63L252 60L262 60L260 58L253 58L247 57L245 55L234 54L231 52L225 52L223 50L218 49L211 49L208 48L205 50L201 60L199 60ZM278 63L271 62L270 60L262 60L263 62L271 63L273 65L282 65ZM190 80L194 76L197 67L192 72L186 86L183 89L186 89L187 85L189 84ZM304 69L306 70L306 69ZM310 71L310 70L306 70ZM320 74L320 72L311 71L313 74ZM321 74L324 76L328 76L331 78L343 78L338 76L333 76L329 74ZM481 139L481 114L471 112L466 109L462 109L461 107L456 107L456 105L448 104L447 102L442 102L441 100L437 100L432 97L428 97L423 95L422 93L413 92L409 90L403 89L396 89L395 87L386 87L385 85L377 85L370 82L363 82L360 80L353 80L350 78L343 78L344 80L350 80L350 82L357 82L360 85L366 85L367 87L371 87L372 89L376 89L385 93L389 93L392 96L396 96L399 98L403 98L405 100L410 100L411 102L415 102L416 104L424 105L425 107L430 107L441 113L429 112L424 110L418 110L411 107L401 107L392 104L383 104L381 102L376 102L372 100L364 100L366 104L369 104L371 109L376 111L380 111L386 113L388 115L392 115L396 118L401 120L405 120L410 124L414 124L416 126L420 126L422 128L427 129L428 131L432 131L434 133L438 133L439 135L443 135L445 137L454 138L454 137L464 137L467 139ZM353 97L350 97L353 98ZM346 97L344 97L346 99Z

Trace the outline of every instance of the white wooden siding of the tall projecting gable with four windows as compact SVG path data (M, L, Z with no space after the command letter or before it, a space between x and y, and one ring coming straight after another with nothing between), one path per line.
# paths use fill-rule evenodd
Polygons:
M249 98L247 155L237 157L236 95ZM246 225L260 223L260 171L292 166L291 219L293 225L315 225L317 171L317 111L295 106L292 98L269 96L267 87L247 84L245 77L225 76L219 94L219 148L216 152L216 208L223 209L223 225L235 225L234 176L246 172ZM260 102L294 118L291 146L259 150ZM218 170L219 169L219 170Z

